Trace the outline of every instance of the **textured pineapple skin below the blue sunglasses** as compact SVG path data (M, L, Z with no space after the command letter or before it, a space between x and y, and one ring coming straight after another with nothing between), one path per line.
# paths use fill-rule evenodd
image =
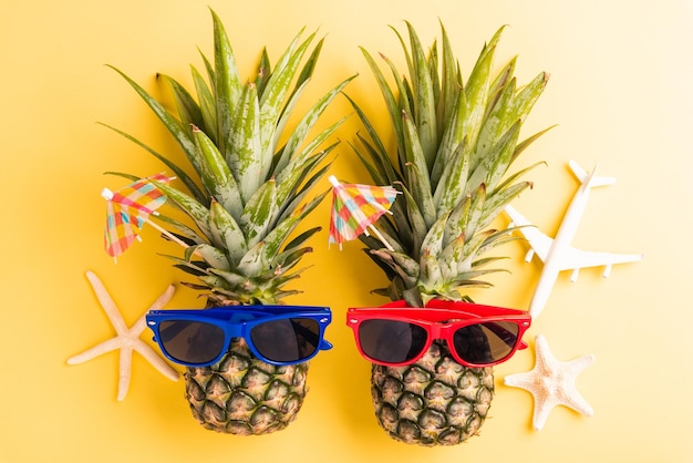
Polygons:
M296 419L308 392L308 367L262 362L242 339L235 339L218 363L187 368L185 397L193 416L208 430L269 434Z

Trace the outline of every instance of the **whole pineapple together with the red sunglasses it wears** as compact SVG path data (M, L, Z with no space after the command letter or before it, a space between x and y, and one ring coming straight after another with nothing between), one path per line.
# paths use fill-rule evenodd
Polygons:
M463 81L452 45L426 55L411 24L404 48L408 75L364 51L383 93L396 155L352 101L364 127L359 157L376 185L402 194L376 234L361 236L390 280L376 292L394 302L350 309L346 323L356 347L373 363L371 389L380 425L394 439L422 445L458 444L479 431L494 394L494 364L508 360L530 326L527 312L472 303L465 288L490 286L480 278L499 258L485 254L511 239L493 222L530 186L506 175L539 135L519 132L541 94L547 74L519 89L515 60L493 74L499 30L484 45ZM404 75L404 78L401 78Z

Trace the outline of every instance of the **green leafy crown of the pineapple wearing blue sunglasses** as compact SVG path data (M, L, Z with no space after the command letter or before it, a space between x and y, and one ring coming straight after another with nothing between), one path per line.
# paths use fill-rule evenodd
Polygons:
M311 251L304 244L320 227L289 238L327 194L308 198L325 174L329 163L323 161L337 143L320 146L344 119L312 138L309 133L353 78L320 97L288 132L289 119L310 82L322 40L308 54L316 34L301 41L299 32L273 69L265 49L255 80L244 84L224 25L214 11L211 17L214 61L203 54L209 83L192 66L197 99L175 79L161 75L173 92L177 116L113 68L170 132L197 179L166 156L114 130L161 160L187 189L153 181L195 224L196 229L159 216L190 245L183 258L167 256L176 267L197 277L197 284L187 285L206 291L211 305L277 303L298 292L285 289L285 285L302 270L296 265Z

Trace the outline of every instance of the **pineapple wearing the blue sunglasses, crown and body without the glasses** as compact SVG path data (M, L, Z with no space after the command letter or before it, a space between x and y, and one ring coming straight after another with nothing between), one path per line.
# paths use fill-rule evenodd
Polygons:
M211 16L214 60L203 55L209 83L192 68L197 99L173 78L159 76L170 86L177 116L114 68L178 142L195 175L117 132L154 154L185 185L184 191L155 182L194 224L161 217L188 244L183 257L168 256L175 267L196 277L186 285L201 291L207 307L279 303L298 292L286 285L299 276L301 269L296 266L311 251L304 244L319 227L289 238L327 193L308 197L327 172L323 161L337 143L319 147L343 120L312 138L308 135L351 79L320 97L298 122L290 122L322 40L310 51L314 33L306 40L299 33L273 69L263 50L257 74L244 84L224 25L214 11ZM307 392L307 372L308 362L265 363L237 339L218 363L187 368L186 398L194 416L207 429L242 435L269 433L296 418Z

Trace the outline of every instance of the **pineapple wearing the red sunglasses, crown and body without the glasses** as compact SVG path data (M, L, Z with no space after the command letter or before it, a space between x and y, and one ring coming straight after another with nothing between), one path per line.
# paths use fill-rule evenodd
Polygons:
M453 55L445 28L442 42L426 54L407 22L408 47L394 28L408 66L392 73L391 86L368 51L362 52L384 96L394 130L396 156L364 112L350 99L366 135L354 151L379 185L403 194L393 215L376 226L394 250L373 237L361 237L390 285L376 292L411 307L432 299L470 301L464 288L488 287L484 276L499 257L483 257L514 239L492 223L530 186L518 178L534 166L506 176L510 164L544 132L518 142L520 126L541 94L547 74L521 89L513 76L516 59L495 76L493 61L503 29L484 45L466 82ZM548 130L548 128L547 128ZM393 157L396 160L393 161ZM466 368L435 341L415 364L373 364L372 398L380 425L395 440L422 445L458 444L479 432L494 395L492 368Z

